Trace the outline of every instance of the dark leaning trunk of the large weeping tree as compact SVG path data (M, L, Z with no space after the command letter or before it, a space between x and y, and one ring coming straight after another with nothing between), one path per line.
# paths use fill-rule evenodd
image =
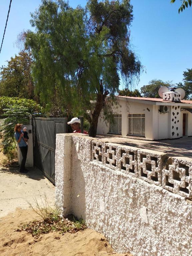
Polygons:
M88 120L90 122L90 128L89 128L89 136L90 137L96 137L97 134L97 124L98 124L98 119L100 112L102 108L104 107L105 104L105 99L108 95L108 91L103 91L103 82L102 80L100 81L100 91L97 93L97 101L96 101L96 106L95 110L92 114L92 118Z

